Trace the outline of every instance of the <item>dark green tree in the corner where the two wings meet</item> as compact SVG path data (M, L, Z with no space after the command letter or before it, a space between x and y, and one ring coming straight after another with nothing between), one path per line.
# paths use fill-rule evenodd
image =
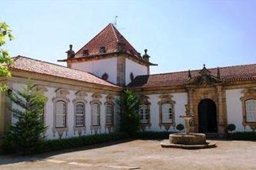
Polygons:
M140 116L138 110L140 101L134 92L124 90L117 100L120 109L120 131L133 134L139 130Z

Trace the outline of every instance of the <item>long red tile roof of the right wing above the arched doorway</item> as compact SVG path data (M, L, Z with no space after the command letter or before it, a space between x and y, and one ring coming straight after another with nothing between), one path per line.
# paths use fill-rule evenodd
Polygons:
M211 74L217 76L217 68L208 69ZM191 71L191 76L198 76L200 70ZM220 67L221 80L223 81L243 81L256 80L256 64L241 66ZM164 87L173 85L184 85L188 80L188 71L174 73L151 74L136 76L129 83L128 87Z

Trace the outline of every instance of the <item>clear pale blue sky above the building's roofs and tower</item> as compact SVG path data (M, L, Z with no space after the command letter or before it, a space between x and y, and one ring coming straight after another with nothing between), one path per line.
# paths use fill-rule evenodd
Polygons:
M0 21L15 40L5 46L58 63L118 15L118 29L143 53L151 73L256 63L256 1L0 1ZM65 63L59 63L64 64Z

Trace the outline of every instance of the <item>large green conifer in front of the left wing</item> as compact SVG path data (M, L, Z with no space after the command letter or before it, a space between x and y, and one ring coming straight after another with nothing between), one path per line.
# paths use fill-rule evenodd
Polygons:
M22 90L9 92L8 97L17 105L12 108L17 122L10 125L10 132L4 136L4 146L18 153L31 153L44 139L42 113L46 97L32 84Z

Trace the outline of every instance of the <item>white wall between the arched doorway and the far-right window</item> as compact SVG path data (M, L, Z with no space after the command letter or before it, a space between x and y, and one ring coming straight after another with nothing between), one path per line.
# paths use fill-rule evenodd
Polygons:
M235 124L236 131L252 131L249 126L243 127L243 106L240 100L244 89L226 90L228 124Z

